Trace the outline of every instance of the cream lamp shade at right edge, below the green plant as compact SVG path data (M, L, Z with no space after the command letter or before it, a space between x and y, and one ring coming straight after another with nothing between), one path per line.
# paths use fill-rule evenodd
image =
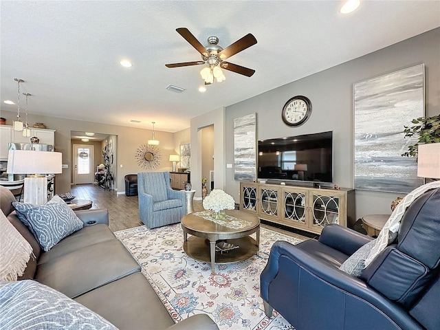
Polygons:
M417 176L440 179L440 143L419 144Z

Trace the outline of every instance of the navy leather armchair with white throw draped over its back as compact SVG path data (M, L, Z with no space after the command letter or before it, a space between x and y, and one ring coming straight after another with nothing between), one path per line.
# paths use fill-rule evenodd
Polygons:
M318 241L278 241L261 274L265 313L296 329L440 329L440 189L406 209L397 243L360 276L338 268L371 238L331 224Z

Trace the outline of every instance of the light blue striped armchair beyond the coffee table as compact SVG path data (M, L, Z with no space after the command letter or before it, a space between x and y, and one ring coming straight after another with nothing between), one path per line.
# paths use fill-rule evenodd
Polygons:
M180 222L186 214L185 192L173 190L169 172L137 173L140 220L148 228Z

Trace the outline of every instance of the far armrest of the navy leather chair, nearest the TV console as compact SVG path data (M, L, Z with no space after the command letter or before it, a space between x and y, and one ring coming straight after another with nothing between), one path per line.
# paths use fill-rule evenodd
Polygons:
M320 243L338 250L343 254L347 254L347 256L351 256L351 254L356 252L362 245L372 240L373 238L370 236L336 223L326 225L318 239Z

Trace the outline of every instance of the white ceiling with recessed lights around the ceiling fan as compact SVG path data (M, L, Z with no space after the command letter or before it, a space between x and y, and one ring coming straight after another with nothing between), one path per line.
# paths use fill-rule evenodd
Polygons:
M17 101L21 78L29 113L145 129L154 121L175 132L197 115L440 26L439 0L364 0L349 15L339 13L342 2L2 0L1 101ZM203 45L218 36L223 48L254 34L258 43L228 61L256 73L225 71L224 83L201 94L203 66L165 67L201 58L176 28Z

